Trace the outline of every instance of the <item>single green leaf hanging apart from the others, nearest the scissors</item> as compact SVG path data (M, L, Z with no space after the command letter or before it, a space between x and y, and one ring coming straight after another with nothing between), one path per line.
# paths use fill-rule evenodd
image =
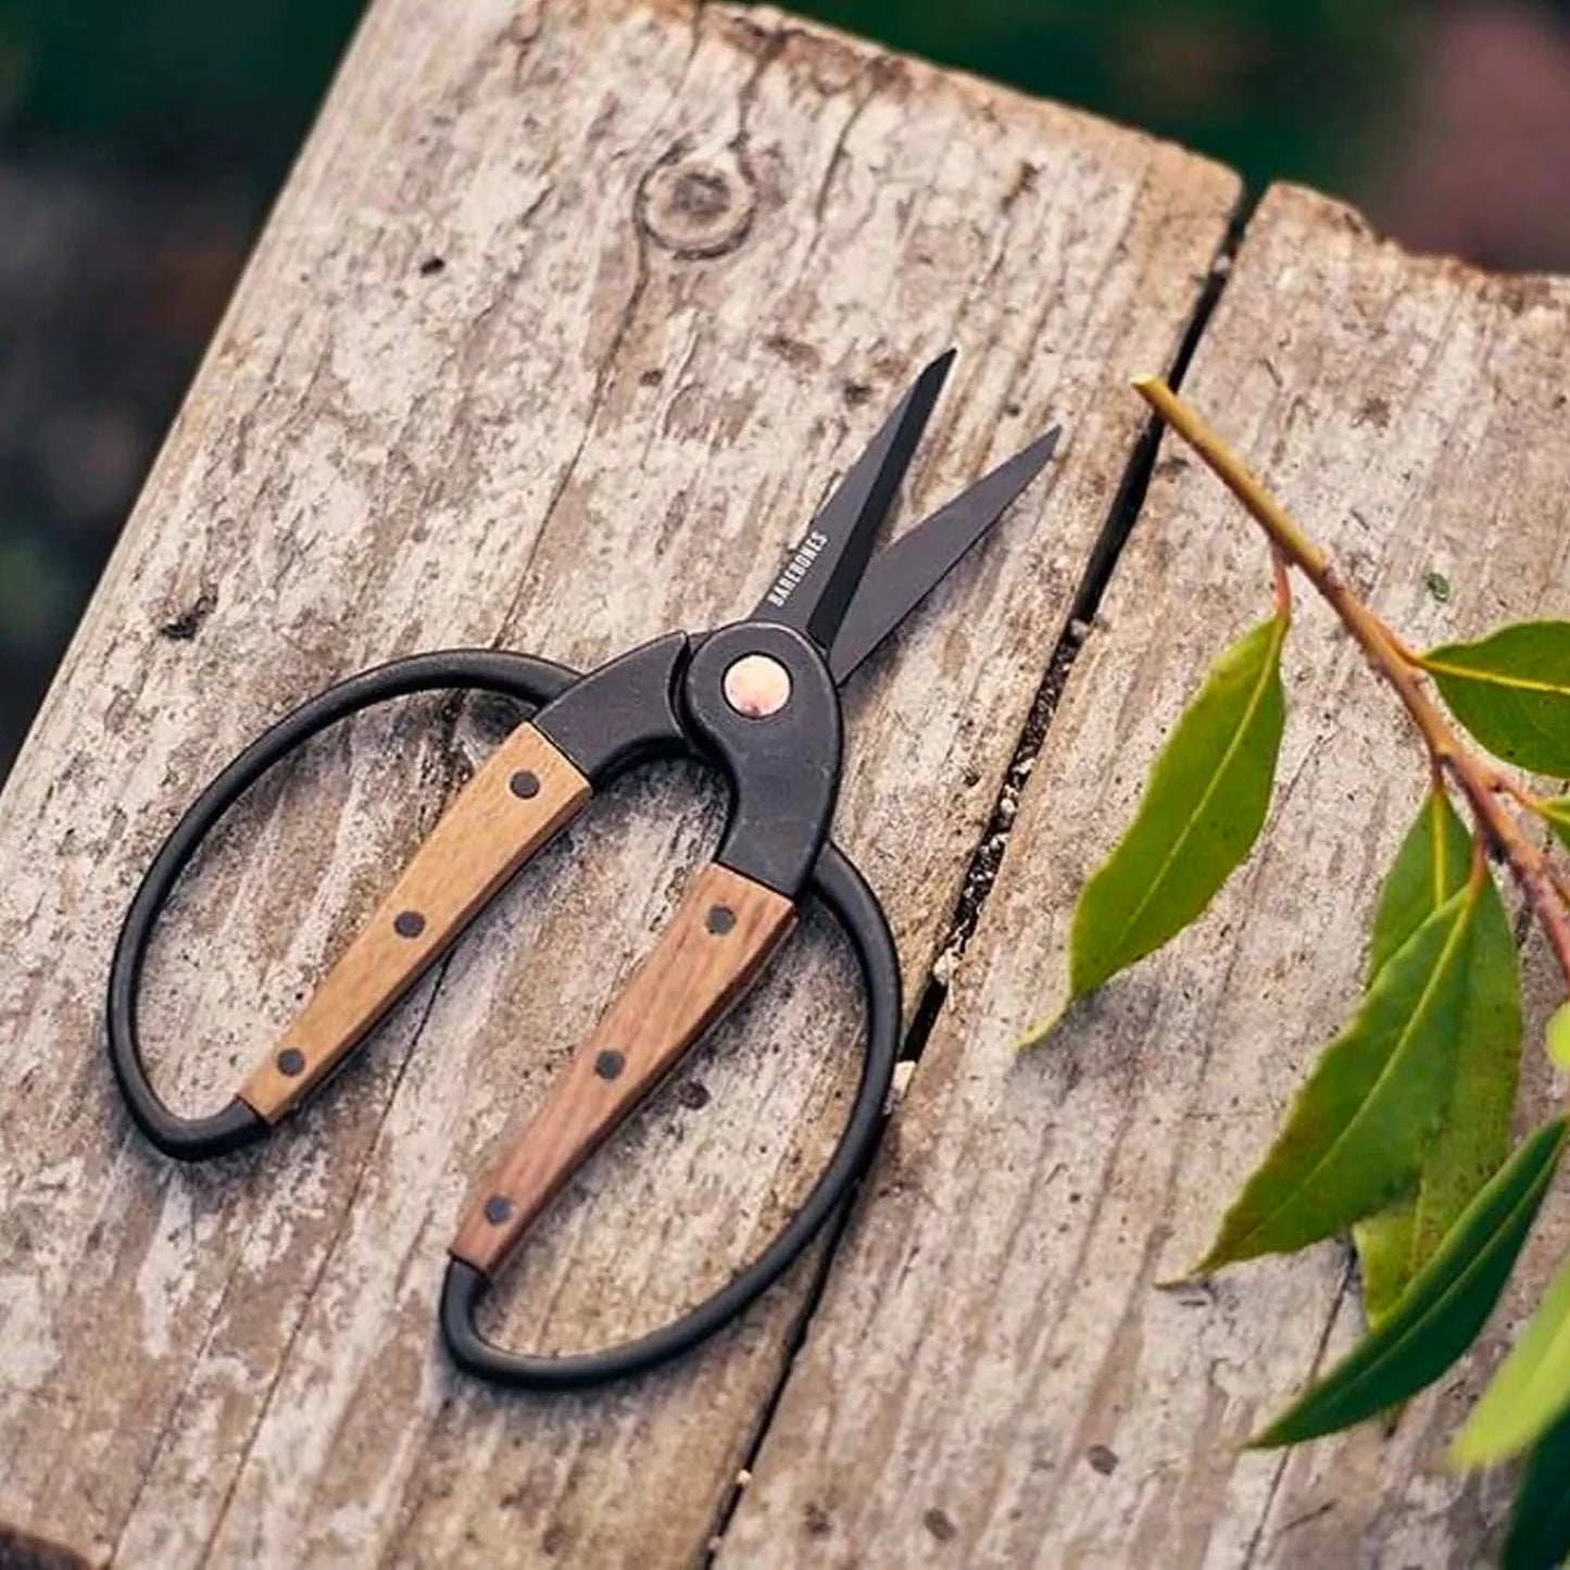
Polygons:
M1181 933L1253 848L1286 724L1284 637L1275 615L1232 644L1173 728L1134 823L1080 892L1072 997Z

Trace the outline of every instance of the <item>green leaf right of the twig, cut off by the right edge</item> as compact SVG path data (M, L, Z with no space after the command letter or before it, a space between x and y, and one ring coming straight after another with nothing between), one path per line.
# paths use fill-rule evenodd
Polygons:
M1496 757L1570 774L1570 622L1517 622L1422 656L1455 717Z

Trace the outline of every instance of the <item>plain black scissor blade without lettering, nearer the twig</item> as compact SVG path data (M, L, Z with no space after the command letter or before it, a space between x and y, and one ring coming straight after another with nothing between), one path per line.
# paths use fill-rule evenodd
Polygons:
M829 648L829 670L840 686L1003 517L1052 457L1061 433L1063 427L1053 425L879 553Z

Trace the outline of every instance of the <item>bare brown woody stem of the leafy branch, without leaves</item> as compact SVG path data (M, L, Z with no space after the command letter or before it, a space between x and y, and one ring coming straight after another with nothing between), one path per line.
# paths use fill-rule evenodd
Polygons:
M1499 771L1470 752L1424 689L1411 650L1345 584L1334 562L1287 517L1243 462L1160 377L1140 377L1135 391L1204 458L1223 485L1253 513L1270 543L1303 573L1341 617L1374 669L1396 689L1438 771L1466 798L1479 838L1498 853L1521 885L1570 983L1570 914L1548 859L1496 794Z

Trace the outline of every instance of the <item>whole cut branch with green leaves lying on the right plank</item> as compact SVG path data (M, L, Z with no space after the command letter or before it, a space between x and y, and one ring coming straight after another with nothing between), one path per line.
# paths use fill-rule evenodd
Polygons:
M1520 972L1490 870L1502 864L1520 885L1570 988L1570 878L1520 816L1570 848L1570 798L1540 798L1495 761L1570 776L1570 622L1415 652L1165 382L1135 388L1264 529L1273 609L1217 658L1173 727L1134 823L1080 892L1069 1002L1020 1046L1044 1041L1082 999L1198 920L1258 840L1286 725L1289 570L1400 699L1429 758L1427 796L1374 912L1363 1000L1193 1272L1352 1232L1367 1334L1250 1441L1295 1444L1388 1415L1466 1352L1570 1138L1559 1116L1510 1146ZM1546 1046L1570 1066L1570 1002ZM1557 1565L1570 1554L1570 1261L1451 1452L1459 1466L1513 1457L1524 1466L1504 1564Z

